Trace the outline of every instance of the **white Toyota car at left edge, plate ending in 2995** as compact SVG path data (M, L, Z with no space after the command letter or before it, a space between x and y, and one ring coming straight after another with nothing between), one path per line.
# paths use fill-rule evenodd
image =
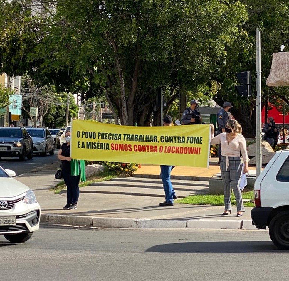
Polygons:
M40 206L34 192L12 176L14 171L0 166L0 234L21 243L39 229Z

